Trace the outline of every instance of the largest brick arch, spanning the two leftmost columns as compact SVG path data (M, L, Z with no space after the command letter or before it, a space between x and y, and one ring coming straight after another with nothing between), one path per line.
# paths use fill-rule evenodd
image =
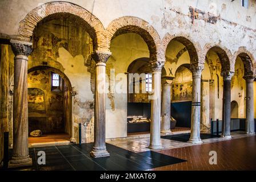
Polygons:
M54 14L71 14L77 16L85 24L87 32L94 40L94 48L101 49L101 36L104 31L102 23L89 11L69 2L48 2L31 10L19 23L17 36L31 42L35 27L47 16Z

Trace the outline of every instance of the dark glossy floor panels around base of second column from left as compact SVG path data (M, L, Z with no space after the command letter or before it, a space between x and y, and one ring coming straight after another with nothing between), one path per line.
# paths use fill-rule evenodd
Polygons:
M70 144L64 146L47 146L29 148L30 156L33 159L33 166L30 168L19 168L25 170L38 171L63 171L63 170L79 170L79 171L139 171L156 167L167 166L186 162L186 160L174 158L160 154L158 152L131 152L123 148L106 144L110 157L93 159L90 157L90 151L93 143ZM38 151L45 151L46 164L38 165Z

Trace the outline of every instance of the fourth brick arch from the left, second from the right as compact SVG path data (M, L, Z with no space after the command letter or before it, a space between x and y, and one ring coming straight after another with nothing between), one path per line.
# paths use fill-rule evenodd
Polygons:
M223 72L235 72L234 64L231 63L233 56L229 49L220 44L206 44L205 47L203 47L201 59L206 59L206 55L209 51L217 53L219 60L221 61L221 69Z

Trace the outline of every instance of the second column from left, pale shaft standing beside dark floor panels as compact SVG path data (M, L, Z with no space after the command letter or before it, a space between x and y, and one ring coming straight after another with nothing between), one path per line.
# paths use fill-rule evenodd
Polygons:
M109 156L106 150L106 62L111 52L95 51L92 55L96 62L95 100L94 100L94 147L93 158Z

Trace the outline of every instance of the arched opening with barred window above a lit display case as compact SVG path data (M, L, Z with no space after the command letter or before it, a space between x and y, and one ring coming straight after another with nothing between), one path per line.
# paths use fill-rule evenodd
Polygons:
M127 73L127 135L150 133L152 74L149 58L134 60ZM162 76L165 75L165 68L162 68ZM129 92L131 87L132 93Z

